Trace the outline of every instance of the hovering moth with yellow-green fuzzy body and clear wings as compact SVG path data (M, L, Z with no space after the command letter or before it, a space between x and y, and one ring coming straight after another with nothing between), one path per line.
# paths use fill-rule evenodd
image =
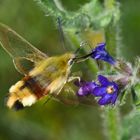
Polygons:
M51 96L68 104L92 103L89 97L78 97L75 86L70 82L77 78L70 76L73 64L85 60L91 54L78 57L77 53L67 52L60 56L48 57L2 23L0 44L12 57L18 72L24 75L9 89L6 101L9 108L18 110L31 106L44 96ZM23 60L32 62L33 68L27 70L22 63Z

